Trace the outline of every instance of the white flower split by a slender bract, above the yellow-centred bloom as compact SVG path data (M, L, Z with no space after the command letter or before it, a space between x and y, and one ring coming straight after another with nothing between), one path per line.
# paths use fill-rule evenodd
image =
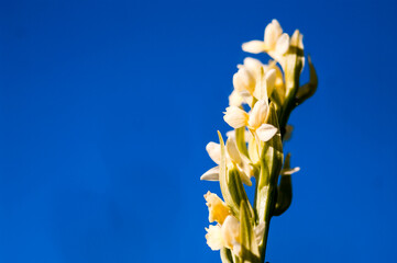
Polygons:
M221 162L221 146L217 142L210 141L206 150L212 161L214 161L218 165L211 168L207 172L205 172L200 180L206 181L219 181L219 164ZM246 185L251 186L251 175L252 168L250 165L250 160L244 156L240 155L238 149L235 138L229 137L227 140L227 167L229 170L236 168L241 178L241 181Z

